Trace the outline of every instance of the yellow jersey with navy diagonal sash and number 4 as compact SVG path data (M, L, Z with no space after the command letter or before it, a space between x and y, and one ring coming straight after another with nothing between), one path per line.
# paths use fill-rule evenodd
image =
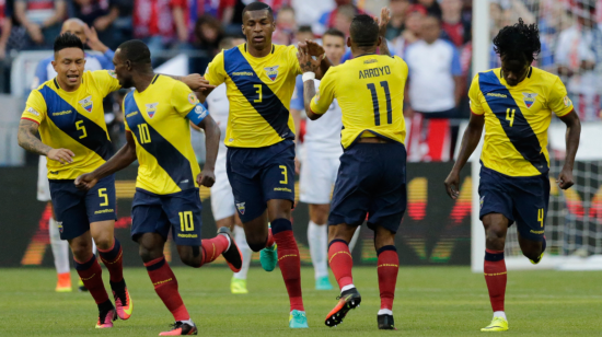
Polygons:
M473 114L485 115L483 165L509 176L548 172L552 112L563 117L572 111L557 75L531 67L522 82L510 86L496 68L475 75L468 97Z

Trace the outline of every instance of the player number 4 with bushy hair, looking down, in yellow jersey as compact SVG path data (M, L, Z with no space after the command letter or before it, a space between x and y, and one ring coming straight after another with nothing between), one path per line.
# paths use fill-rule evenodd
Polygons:
M549 199L547 128L552 113L567 126L566 158L556 183L574 184L572 165L581 125L565 85L557 75L531 67L541 50L535 24L522 19L501 28L494 39L501 68L475 75L468 96L471 120L458 161L445 179L450 197L458 198L460 171L475 150L485 126L481 153L479 218L486 233L485 281L494 310L491 324L482 332L508 330L503 311L506 233L517 222L519 245L531 263L545 251L545 219Z

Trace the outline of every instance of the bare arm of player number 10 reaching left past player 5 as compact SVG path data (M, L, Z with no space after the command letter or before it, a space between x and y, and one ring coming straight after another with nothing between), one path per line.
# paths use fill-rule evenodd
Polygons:
M117 151L106 163L94 170L92 173L82 174L76 178L76 187L82 190L89 190L96 183L107 175L120 171L136 160L136 141L130 131L126 131L126 144Z

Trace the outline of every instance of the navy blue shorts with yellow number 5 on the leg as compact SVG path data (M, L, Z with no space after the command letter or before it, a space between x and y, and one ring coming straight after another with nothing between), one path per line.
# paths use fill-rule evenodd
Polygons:
M88 191L73 179L48 179L50 197L61 240L76 239L90 231L90 223L116 220L115 175L106 176Z

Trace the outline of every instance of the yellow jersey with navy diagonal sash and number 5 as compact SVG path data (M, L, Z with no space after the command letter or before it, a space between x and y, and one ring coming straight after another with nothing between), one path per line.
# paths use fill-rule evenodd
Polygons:
M30 93L22 119L39 125L42 142L73 151L73 162L48 161L49 179L74 179L104 164L113 148L104 120L103 98L120 88L112 70L85 71L80 88L62 90L55 79Z

